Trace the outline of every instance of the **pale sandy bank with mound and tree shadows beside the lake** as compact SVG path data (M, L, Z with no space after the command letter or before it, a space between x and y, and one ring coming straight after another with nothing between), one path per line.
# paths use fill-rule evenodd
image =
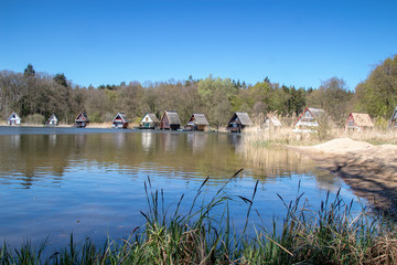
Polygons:
M312 147L289 147L340 176L376 209L397 216L397 146L339 138Z

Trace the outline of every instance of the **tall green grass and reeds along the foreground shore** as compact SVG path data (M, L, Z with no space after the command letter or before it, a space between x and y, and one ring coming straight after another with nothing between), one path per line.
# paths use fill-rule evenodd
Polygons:
M238 173L238 172L237 172ZM236 173L236 174L237 174ZM311 208L298 191L294 201L285 202L282 222L273 227L255 225L247 233L255 210L257 187L248 197L229 197L221 188L204 199L202 188L187 212L168 212L163 191L144 184L148 211L146 224L128 237L108 240L103 245L89 240L71 243L64 250L43 256L45 244L29 243L11 250L0 248L0 264L396 264L397 233L394 223L369 211L352 212L352 203L339 194L328 195ZM227 186L227 183L225 184ZM238 200L247 206L245 227L236 229L229 219L228 203ZM282 200L282 198L280 198ZM219 211L223 210L223 211ZM216 213L215 213L216 211ZM221 214L219 214L221 212Z

